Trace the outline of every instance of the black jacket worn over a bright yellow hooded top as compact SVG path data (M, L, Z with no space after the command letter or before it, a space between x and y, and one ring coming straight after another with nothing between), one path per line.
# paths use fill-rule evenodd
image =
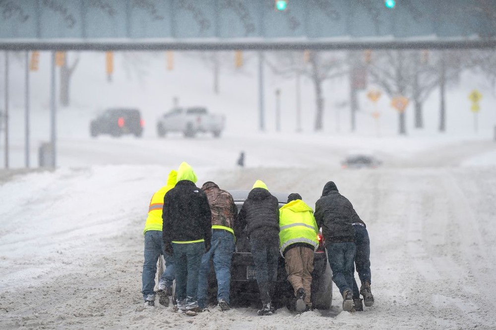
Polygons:
M164 243L204 239L210 242L211 212L205 192L189 180L167 191L162 209Z

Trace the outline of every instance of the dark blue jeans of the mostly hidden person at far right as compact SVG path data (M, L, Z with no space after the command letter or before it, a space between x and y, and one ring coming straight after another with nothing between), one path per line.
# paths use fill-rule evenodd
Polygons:
M355 244L357 245L357 253L355 255L355 266L357 267L358 277L360 282L371 282L371 242L367 228L359 225L355 227ZM355 268L353 268L353 299L360 298L360 290L355 281Z

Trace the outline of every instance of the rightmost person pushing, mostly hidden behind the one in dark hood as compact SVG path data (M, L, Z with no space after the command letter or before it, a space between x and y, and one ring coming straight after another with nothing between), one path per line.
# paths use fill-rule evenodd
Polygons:
M360 282L362 283L359 291L357 281L355 281L355 276L353 276L353 305L356 311L363 311L364 306L360 294L364 297L363 302L366 307L371 307L373 305L373 295L371 291L371 247L367 226L365 225L365 222L360 219L355 210L353 210L352 221L352 225L355 228L355 244L357 246L355 266ZM353 270L353 273L355 273L355 270Z

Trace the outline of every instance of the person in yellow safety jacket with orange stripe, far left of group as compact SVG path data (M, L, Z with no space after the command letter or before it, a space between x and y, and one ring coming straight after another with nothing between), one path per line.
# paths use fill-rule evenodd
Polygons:
M157 261L161 255L165 258L165 270L158 282L159 303L169 306L169 296L172 294L172 283L175 278L174 258L164 251L162 239L162 210L164 207L164 195L176 186L177 172L172 170L167 178L167 185L157 190L148 206L148 217L146 218L143 235L145 236L143 273L141 275L143 299L145 306L155 305L155 274L157 273Z

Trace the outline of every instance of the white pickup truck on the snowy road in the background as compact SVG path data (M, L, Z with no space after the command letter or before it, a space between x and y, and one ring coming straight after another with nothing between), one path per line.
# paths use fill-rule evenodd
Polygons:
M210 114L204 107L177 107L158 118L157 134L164 137L168 132L182 132L186 138L192 138L196 133L211 132L218 138L224 122L224 115Z

